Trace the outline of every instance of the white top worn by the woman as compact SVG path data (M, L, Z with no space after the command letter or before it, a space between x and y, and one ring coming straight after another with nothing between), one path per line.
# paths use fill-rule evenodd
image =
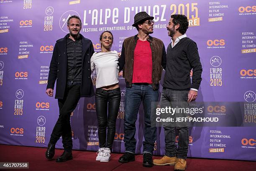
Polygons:
M96 69L96 88L118 83L118 53L117 51L95 52L91 57L91 70Z

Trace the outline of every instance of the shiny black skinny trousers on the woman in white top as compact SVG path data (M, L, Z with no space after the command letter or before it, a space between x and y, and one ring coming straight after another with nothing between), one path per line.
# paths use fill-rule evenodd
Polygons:
M98 119L98 136L100 148L112 149L115 138L115 121L120 106L120 88L113 90L96 89L95 93L96 114ZM108 135L106 128L108 127ZM106 143L107 138L107 143Z

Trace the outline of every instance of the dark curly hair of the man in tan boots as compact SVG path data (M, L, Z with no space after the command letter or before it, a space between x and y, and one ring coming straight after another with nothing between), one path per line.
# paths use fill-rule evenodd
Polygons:
M172 23L174 23L174 25L179 24L179 28L178 28L179 33L185 34L189 26L187 16L181 15L181 14L174 14L174 15L171 15L171 18L172 18Z

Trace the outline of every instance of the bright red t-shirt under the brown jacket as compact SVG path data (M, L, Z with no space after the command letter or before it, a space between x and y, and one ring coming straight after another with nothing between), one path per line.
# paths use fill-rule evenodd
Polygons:
M134 50L132 83L152 84L152 52L148 41L137 41Z

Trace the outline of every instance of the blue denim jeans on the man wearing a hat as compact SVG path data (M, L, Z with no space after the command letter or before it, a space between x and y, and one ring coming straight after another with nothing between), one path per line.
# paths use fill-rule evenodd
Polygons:
M144 138L143 153L151 153L154 151L154 143L156 141L156 125L152 125L155 121L155 114L151 114L151 102L157 102L159 96L158 89L154 90L152 85L136 85L126 87L125 92L125 117L124 117L124 142L125 152L135 153L136 139L136 120L138 110L143 103L144 109ZM154 123L153 123L154 124Z

